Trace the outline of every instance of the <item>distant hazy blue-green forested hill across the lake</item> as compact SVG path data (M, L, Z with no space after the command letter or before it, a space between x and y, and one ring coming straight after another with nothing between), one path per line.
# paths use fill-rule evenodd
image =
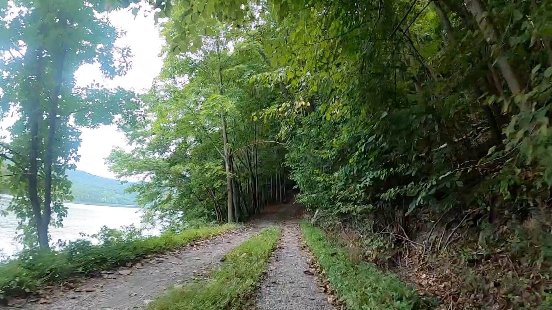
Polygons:
M73 183L72 202L79 204L120 204L136 205L136 194L125 193L129 183L98 177L81 170L67 170L69 180Z

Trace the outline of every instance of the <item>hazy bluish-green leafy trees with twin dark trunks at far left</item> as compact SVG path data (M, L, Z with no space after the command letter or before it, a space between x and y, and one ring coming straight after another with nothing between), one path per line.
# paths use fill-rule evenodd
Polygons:
M127 2L128 4L128 2ZM99 83L82 87L73 74L84 63L98 64L107 78L131 67L130 50L114 42L121 35L105 17L114 7L93 1L0 1L0 116L16 117L0 157L12 162L14 196L7 211L21 220L26 245L49 247L48 227L60 226L71 200L66 169L79 157L79 127L131 122L133 94Z

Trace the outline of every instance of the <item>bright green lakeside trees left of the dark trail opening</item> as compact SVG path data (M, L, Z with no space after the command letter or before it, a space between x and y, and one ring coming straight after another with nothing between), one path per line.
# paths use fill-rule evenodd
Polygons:
M169 20L163 34L170 38L177 30ZM269 70L261 33L217 23L205 31L193 51L167 56L142 97L145 113L155 117L128 127L137 147L115 149L108 158L119 177L143 179L130 190L151 219L243 220L264 202L283 200L278 127L256 116L278 94L250 83Z

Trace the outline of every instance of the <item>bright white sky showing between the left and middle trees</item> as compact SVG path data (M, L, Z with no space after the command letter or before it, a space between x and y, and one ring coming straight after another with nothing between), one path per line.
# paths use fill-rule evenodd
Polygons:
M163 65L159 55L164 43L159 35L159 30L153 22L153 14L140 12L136 19L128 10L121 9L109 15L112 24L126 30L126 36L115 42L118 46L130 46L132 54L132 69L123 77L116 77L113 81L105 81L99 71L99 65L83 65L75 72L77 85L86 86L93 81L108 87L120 86L135 92L146 92L157 77ZM6 127L13 124L15 119L6 117L0 123L1 135L6 135ZM115 125L102 125L97 129L82 128L81 147L78 154L81 160L77 163L78 170L99 175L100 177L115 178L104 163L104 158L114 146L127 150L130 146L126 144L124 134L119 132Z

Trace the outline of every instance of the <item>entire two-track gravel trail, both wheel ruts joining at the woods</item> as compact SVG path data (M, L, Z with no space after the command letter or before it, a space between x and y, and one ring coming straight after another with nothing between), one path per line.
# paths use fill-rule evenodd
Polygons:
M87 279L75 290L50 292L50 303L27 302L29 310L130 310L145 309L172 285L181 285L201 277L205 271L220 264L220 259L232 248L252 237L262 228L280 225L283 237L268 265L268 276L256 297L258 310L329 310L327 297L317 288L315 276L309 270L307 253L301 248L300 228L296 221L298 206L272 206L246 228L215 237L204 245L189 247L161 257L115 270L113 274ZM125 270L130 270L127 274ZM120 271L123 271L122 274ZM78 291L78 292L75 292ZM0 306L1 310L7 310Z

